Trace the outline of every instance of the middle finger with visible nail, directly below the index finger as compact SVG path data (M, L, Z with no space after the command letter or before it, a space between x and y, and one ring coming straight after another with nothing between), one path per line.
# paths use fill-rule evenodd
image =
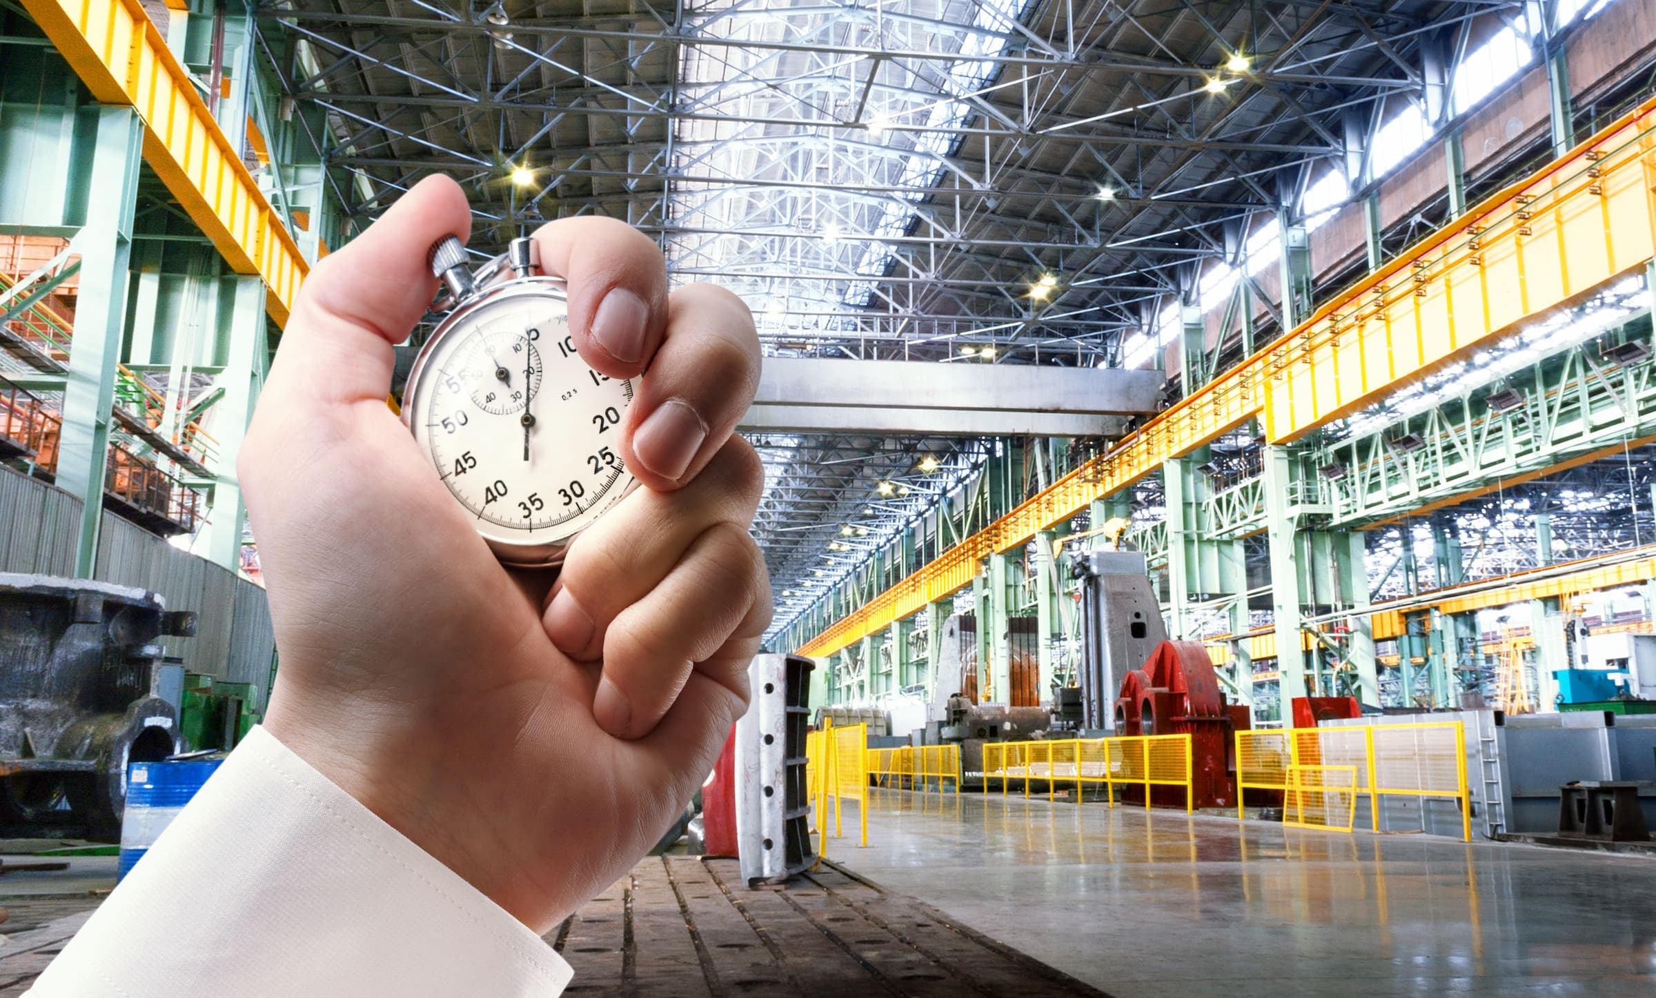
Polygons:
M664 492L696 478L753 402L758 362L740 298L712 285L674 291L666 339L626 414L621 458L633 475Z

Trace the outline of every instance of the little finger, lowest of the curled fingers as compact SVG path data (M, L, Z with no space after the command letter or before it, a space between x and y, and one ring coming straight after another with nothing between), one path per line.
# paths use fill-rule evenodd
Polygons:
M770 581L758 545L739 526L714 525L661 584L609 624L593 718L621 738L647 735L679 697L694 662L717 659L710 679L729 685L727 645L757 649L768 622Z

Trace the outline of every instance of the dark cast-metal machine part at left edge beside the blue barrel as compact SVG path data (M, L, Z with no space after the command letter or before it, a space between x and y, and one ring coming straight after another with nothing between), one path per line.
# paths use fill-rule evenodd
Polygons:
M195 614L144 589L0 573L0 829L121 826L129 761L182 750L172 703L154 695L161 637Z

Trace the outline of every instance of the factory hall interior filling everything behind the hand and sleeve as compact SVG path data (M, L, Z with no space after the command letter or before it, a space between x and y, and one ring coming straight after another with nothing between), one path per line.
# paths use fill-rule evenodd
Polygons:
M762 348L571 993L1656 993L1656 0L0 0L0 998L267 717L237 460L431 174L449 305L604 217Z

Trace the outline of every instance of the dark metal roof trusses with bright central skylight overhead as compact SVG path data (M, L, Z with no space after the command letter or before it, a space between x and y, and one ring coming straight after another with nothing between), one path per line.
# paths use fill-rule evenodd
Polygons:
M335 190L363 222L445 170L472 197L474 250L626 218L676 281L742 295L770 353L1108 366L1206 263L1235 261L1257 215L1295 212L1363 141L1353 122L1424 99L1427 55L1449 53L1452 78L1469 38L1522 8L272 0L260 30L301 41L275 70L328 113ZM871 523L854 548L873 548L944 492L869 518L869 482L922 453L967 473L985 447L757 444L755 536L777 593L798 593L778 627L811 579L859 561L830 548L845 525Z

